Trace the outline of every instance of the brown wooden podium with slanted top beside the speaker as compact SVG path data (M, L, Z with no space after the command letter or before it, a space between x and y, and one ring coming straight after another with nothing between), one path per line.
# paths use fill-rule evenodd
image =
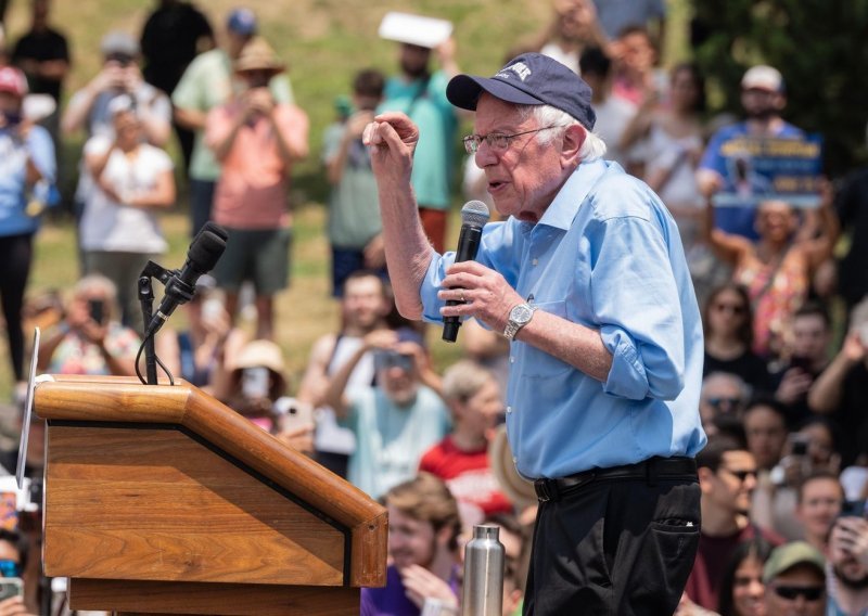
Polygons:
M34 410L74 609L336 616L385 585L385 509L192 385L55 376Z

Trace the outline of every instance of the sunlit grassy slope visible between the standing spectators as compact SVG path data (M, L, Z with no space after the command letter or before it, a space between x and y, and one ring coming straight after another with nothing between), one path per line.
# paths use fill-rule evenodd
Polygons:
M74 57L66 82L66 95L97 74L100 66L99 43L111 29L124 29L138 36L146 12L156 2L142 0L76 0L54 2L53 23L69 38ZM296 101L310 117L311 154L293 172L293 201L296 218L292 253L292 286L278 298L278 342L284 349L289 370L297 385L310 344L320 334L336 328L337 313L329 296L328 244L323 227L322 203L328 193L320 170L319 154L323 129L332 121L333 101L347 93L353 75L360 68L378 67L391 74L396 64L396 46L376 37L382 16L399 10L445 17L456 24L458 60L461 68L492 74L502 63L509 48L528 38L549 20L550 3L539 0L209 0L200 1L219 29L227 12L239 4L256 11L261 34L290 67ZM673 50L684 49L684 23L687 0L676 0L668 28L666 57L681 59ZM15 40L27 27L28 2L14 2L7 31ZM80 138L65 147L67 161L76 161ZM170 152L175 153L173 146ZM179 175L180 176L180 175ZM74 187L74 168L63 170L64 188ZM182 187L181 187L182 188ZM181 192L181 195L183 192ZM455 205L461 197L456 195ZM170 252L162 265L175 268L183 262L187 249L186 198L179 198L176 211L163 217ZM452 217L452 223L457 217ZM455 229L452 235L455 236ZM74 232L66 219L47 223L37 241L36 259L29 292L48 288L67 290L78 277ZM0 266L1 267L1 266ZM158 292L157 292L158 295ZM181 324L181 315L174 319ZM460 345L438 339L439 330L431 329L435 363L444 367L460 354ZM11 393L11 374L5 342L0 346L0 400Z

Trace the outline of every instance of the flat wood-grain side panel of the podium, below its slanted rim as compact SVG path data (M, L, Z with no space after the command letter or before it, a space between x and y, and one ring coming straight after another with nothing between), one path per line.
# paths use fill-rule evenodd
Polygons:
M182 433L60 426L48 451L48 576L343 583L343 532Z

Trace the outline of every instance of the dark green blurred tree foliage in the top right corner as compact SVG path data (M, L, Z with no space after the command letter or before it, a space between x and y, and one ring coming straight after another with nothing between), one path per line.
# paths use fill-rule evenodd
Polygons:
M693 11L714 111L741 117L741 76L769 64L787 84L784 118L824 136L830 177L868 161L868 0L694 0Z

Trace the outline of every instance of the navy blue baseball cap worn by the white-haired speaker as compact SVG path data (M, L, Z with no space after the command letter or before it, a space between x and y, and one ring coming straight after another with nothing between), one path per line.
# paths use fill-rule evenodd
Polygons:
M597 121L597 114L590 106L590 86L570 68L541 53L523 53L507 62L494 77L456 75L446 87L446 98L457 107L476 111L483 90L508 103L551 105L573 116L588 130L592 130Z

